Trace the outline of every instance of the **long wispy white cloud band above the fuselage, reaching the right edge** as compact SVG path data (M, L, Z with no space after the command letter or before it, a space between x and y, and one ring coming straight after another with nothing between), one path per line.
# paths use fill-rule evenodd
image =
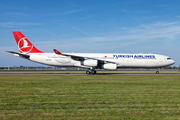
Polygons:
M72 38L67 42L76 41L80 44L104 44L105 42L121 42L121 46L128 46L146 41L164 41L171 42L180 37L180 24L178 22L156 22L153 24L141 24L134 28L119 28L119 30L111 31L104 36L93 36L80 29L77 29L89 37Z

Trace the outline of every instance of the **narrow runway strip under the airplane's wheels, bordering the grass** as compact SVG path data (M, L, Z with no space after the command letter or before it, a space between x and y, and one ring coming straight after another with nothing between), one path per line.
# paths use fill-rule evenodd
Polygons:
M0 75L180 75L180 71L97 71L97 74L86 74L85 71L0 71Z

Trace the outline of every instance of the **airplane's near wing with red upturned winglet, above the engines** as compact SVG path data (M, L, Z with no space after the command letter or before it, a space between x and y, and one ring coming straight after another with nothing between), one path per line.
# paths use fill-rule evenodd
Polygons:
M84 56L76 56L76 55L71 55L71 54L64 54L64 53L59 52L56 49L53 49L53 50L54 50L55 54L57 54L57 55L63 55L63 56L71 57L73 60L77 60L77 61L91 59L91 60L98 60L98 62L102 63L102 64L106 64L106 63L117 64L116 62L112 62L112 61L107 61L107 60L102 60L102 59L97 59L97 58L91 58L91 57L84 57Z

